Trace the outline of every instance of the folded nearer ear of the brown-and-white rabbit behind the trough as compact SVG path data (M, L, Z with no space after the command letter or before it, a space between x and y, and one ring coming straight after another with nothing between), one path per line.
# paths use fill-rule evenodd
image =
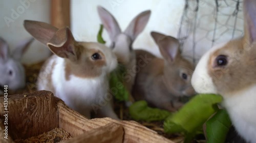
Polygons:
M74 37L68 27L58 30L47 43L50 50L61 58L77 60L77 52Z

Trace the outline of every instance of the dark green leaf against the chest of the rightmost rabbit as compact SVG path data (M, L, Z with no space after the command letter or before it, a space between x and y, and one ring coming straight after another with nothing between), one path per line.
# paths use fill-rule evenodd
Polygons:
M218 112L206 122L207 142L224 143L231 124L227 111L224 109L218 110Z

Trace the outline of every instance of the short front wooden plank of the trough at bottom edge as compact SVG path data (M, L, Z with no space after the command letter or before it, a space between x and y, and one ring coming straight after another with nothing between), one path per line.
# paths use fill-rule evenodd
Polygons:
M121 125L110 123L105 126L92 129L87 133L78 135L63 143L79 143L79 142L121 143L123 142L123 128Z

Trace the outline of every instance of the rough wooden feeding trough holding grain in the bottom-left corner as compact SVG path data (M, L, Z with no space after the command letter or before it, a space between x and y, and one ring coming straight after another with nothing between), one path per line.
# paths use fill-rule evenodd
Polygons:
M52 138L51 142L172 142L134 121L86 119L48 91L11 95L8 98L7 110L4 97L0 101L2 143L28 142L29 139L35 139L35 136ZM4 125L6 113L8 139L4 134L7 126ZM65 137L67 140L63 140L65 138L57 132L68 133L69 136ZM55 135L50 135L51 133ZM42 139L31 142L40 140Z

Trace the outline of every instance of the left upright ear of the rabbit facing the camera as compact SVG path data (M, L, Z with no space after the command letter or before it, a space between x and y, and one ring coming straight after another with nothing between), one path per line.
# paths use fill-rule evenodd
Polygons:
M97 9L102 24L106 28L106 31L108 31L110 39L114 41L115 37L121 33L120 27L116 19L110 12L108 12L104 8L98 6Z

